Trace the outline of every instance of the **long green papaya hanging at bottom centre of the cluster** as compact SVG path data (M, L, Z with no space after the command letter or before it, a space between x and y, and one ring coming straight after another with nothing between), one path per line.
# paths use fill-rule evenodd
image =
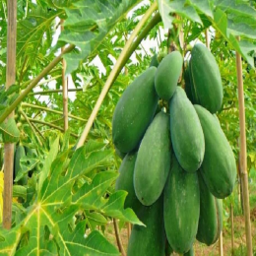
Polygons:
M166 236L171 248L187 252L196 239L200 211L197 172L188 173L172 159L163 197L163 217Z

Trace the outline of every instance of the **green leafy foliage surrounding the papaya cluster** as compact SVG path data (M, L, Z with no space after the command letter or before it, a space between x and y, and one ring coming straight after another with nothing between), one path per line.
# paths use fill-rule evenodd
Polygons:
M132 210L123 209L126 193L114 192L121 160L111 141L112 114L125 88L148 68L156 52L159 58L166 54L170 40L183 56L189 57L195 39L205 42L204 32L211 27L211 50L219 62L224 83L224 105L218 115L236 160L239 123L235 50L242 54L248 168L255 166L256 11L255 3L246 0L158 0L162 22L147 37L158 41L159 46L145 52L143 42L136 49L137 62L126 63L99 109L86 145L74 152L77 138L111 73L113 59L118 58L127 37L149 8L144 4L127 18L127 13L140 2L37 0L32 3L18 0L17 80L16 85L5 92L7 3L1 1L0 114L53 60L60 47L68 43L75 44L76 48L65 55L66 72L71 75L76 89L81 90L75 100L69 99L69 113L78 118L70 118L66 134L52 128L55 125L62 129L61 114L28 107L31 104L62 111L62 95L56 92L47 93L48 101L31 92L16 109L15 120L0 126L2 143L16 142L36 152L21 161L23 171L18 179L29 172L32 176L26 186L15 183L14 195L18 200L13 206L13 227L11 231L0 229L1 255L119 255L102 235L105 225L112 218L141 223ZM64 32L57 44L53 44L60 19L65 20ZM160 36L163 28L164 37ZM184 48L178 40L181 31L184 32ZM240 41L236 40L237 35ZM105 74L92 64L96 57L105 68ZM61 72L59 63L45 76L46 82L38 85L40 90L44 93L52 90L50 81L56 82L54 90L61 89ZM26 116L31 118L30 122ZM102 231L96 230L97 226ZM84 237L85 230L88 238Z

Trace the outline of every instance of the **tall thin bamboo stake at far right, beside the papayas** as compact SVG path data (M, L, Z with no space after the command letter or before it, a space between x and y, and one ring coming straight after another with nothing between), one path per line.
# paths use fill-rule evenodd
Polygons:
M238 40L239 40L239 37L238 37ZM240 166L241 166L242 197L243 197L245 230L246 230L246 247L247 247L247 255L252 256L252 236L251 236L250 204L249 204L248 173L247 173L242 60L241 60L241 55L238 52L236 52L236 73L237 73L237 83L238 83L239 125L240 125Z

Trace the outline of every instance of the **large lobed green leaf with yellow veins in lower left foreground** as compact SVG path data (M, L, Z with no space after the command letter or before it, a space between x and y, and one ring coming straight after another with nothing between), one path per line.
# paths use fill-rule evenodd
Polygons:
M57 138L44 162L41 188L26 217L10 231L0 229L0 255L119 255L100 232L94 230L86 238L88 221L76 218L81 211L89 211L91 220L98 218L102 223L101 215L142 224L131 209L123 209L125 191L106 197L117 173L99 169L109 165L112 152L89 143L71 160L69 151L55 159L58 148ZM75 188L75 182L93 169L98 169L93 180Z

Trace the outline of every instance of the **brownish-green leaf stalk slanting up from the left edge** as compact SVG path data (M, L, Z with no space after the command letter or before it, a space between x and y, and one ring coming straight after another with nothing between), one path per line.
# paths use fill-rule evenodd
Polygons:
M6 110L3 112L3 114L0 116L0 123L2 123L6 117L18 106L19 103L22 102L22 100L29 95L29 93L32 91L32 89L38 84L38 82L46 76L50 70L52 70L63 58L63 55L65 53L68 53L72 51L75 48L75 45L71 44L69 45L59 56L57 56L47 67L45 67L41 73L32 80L32 83L30 86L28 86L20 96L18 96L15 101L6 108Z

